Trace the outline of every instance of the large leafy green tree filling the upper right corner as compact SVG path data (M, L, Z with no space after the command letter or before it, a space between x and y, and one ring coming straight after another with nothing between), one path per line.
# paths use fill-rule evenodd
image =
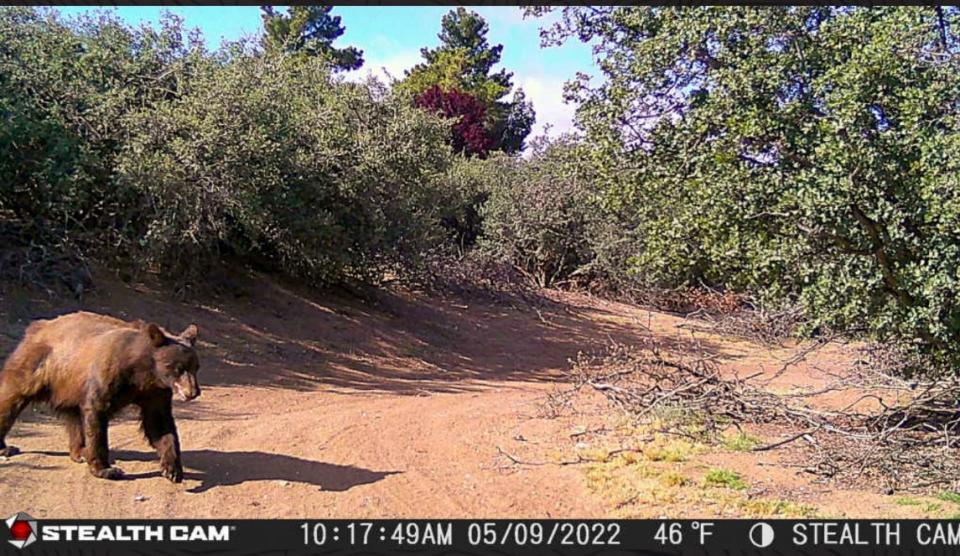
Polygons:
M542 13L543 9L532 10ZM636 271L799 301L960 362L960 56L934 8L564 8L568 85Z

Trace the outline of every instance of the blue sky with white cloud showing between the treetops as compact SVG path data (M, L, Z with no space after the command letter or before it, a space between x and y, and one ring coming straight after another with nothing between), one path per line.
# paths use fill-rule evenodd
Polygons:
M91 8L61 7L65 15L88 10L109 9L130 24L156 24L163 11L184 18L189 27L199 27L210 47L221 40L257 35L261 30L257 6L190 6ZM403 72L421 60L421 47L439 44L440 18L450 6L340 6L333 10L342 18L346 32L335 46L356 46L364 52L364 65L349 78L373 72L403 77ZM516 6L481 6L470 9L482 15L490 26L487 40L503 45L501 66L513 72L515 86L523 88L533 102L537 122L531 137L549 125L551 136L572 130L574 106L563 102L563 84L577 72L597 75L591 49L578 41L560 47L540 47L539 30L546 21L524 18ZM549 16L548 16L549 17Z

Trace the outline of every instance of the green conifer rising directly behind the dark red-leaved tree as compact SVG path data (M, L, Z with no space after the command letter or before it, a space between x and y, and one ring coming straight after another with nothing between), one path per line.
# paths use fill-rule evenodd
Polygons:
M486 106L486 127L494 148L506 153L520 152L536 115L522 89L513 91L511 100L504 100L513 90L513 74L505 69L493 72L493 66L500 62L503 45L491 46L487 41L487 22L463 7L444 15L440 26L440 46L421 49L425 61L407 71L398 87L414 96L435 85L444 91L469 94Z

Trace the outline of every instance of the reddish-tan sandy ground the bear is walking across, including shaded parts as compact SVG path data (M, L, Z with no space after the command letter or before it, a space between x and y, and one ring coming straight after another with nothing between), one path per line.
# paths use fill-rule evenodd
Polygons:
M201 329L203 395L177 403L186 469L160 477L133 416L111 425L111 455L127 480L89 476L66 455L59 423L28 409L0 462L0 515L48 517L614 517L583 466L558 461L579 445L589 414L544 415L544 400L578 351L654 334L697 341L736 372L773 372L799 348L720 338L676 316L575 294L541 311L409 292L376 303L309 293L263 277L240 279L241 295L171 301L108 277L83 308ZM31 318L76 303L6 292L0 354ZM846 361L828 348L819 367ZM824 378L807 364L777 380L784 389ZM751 481L800 493L827 513L896 515L890 497L811 485L776 456L706 454ZM782 487L782 488L780 488ZM790 490L792 489L792 490ZM670 515L724 515L709 505ZM657 508L650 509L656 515Z

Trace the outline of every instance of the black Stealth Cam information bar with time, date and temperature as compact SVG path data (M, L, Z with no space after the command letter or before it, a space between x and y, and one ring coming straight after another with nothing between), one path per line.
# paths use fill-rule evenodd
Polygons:
M948 520L5 519L0 554L958 554Z

